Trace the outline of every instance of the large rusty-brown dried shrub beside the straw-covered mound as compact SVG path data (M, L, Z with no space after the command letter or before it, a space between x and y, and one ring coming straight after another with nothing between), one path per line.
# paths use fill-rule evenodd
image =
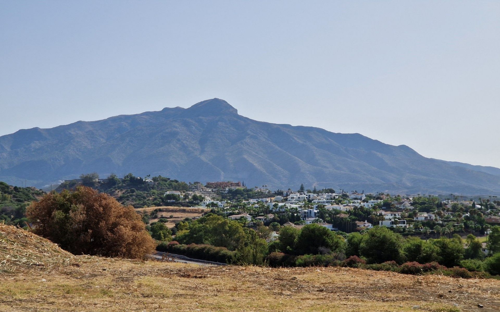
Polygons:
M90 187L50 192L26 215L36 234L73 254L141 258L154 251L140 215Z

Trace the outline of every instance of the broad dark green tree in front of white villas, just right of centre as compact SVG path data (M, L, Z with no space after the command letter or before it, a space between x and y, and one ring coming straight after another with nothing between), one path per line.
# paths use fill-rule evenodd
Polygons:
M345 242L328 228L311 223L300 230L295 249L299 254L317 254L327 249L332 252L344 252Z

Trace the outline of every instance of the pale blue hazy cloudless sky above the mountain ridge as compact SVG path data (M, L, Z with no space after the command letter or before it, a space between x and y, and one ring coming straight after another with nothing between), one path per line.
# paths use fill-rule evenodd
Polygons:
M0 135L212 97L500 167L500 1L0 1Z

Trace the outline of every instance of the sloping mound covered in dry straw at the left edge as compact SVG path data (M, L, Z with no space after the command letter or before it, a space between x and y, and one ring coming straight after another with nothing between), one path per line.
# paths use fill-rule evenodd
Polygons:
M69 265L75 256L50 240L0 223L0 273Z

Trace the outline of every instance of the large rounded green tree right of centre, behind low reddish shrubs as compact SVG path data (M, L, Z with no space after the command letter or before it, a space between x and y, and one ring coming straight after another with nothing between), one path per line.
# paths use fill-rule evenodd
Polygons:
M363 234L359 253L368 263L381 263L394 260L401 261L401 235L385 226L374 226Z

